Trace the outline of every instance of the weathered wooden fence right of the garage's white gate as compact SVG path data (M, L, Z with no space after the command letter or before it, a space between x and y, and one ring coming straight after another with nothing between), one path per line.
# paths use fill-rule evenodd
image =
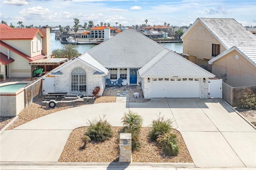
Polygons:
M222 82L222 99L227 101L232 107L240 106L241 100L245 99L244 92L256 93L256 85L232 87Z

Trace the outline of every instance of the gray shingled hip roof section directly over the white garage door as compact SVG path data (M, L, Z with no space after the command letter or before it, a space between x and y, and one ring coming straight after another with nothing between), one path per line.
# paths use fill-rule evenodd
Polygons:
M215 77L202 67L168 50L163 50L138 72L141 77Z

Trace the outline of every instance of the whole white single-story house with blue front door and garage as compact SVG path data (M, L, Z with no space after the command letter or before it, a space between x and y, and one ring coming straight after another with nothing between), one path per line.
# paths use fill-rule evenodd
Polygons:
M106 32L106 30L105 30ZM214 77L205 69L166 49L135 30L125 30L100 43L86 53L52 70L50 92L88 95L100 86L102 95L106 79L122 85L141 84L144 97L208 98L208 79ZM140 83L139 83L140 82ZM47 92L48 93L48 92Z

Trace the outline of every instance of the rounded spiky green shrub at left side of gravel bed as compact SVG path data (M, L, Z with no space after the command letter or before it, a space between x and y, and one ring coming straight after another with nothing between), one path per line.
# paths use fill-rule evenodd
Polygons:
M105 117L105 115L104 115ZM96 142L103 142L112 137L112 127L109 122L100 118L100 120L94 119L92 122L89 121L90 127L86 130L85 135L89 136L90 139Z

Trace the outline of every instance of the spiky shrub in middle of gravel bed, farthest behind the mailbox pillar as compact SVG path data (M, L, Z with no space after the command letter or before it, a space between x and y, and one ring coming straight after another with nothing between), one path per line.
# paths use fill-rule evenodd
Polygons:
M124 113L124 117L122 117L122 123L125 129L134 129L138 131L142 127L142 121L143 119L138 113L130 110L128 113Z

